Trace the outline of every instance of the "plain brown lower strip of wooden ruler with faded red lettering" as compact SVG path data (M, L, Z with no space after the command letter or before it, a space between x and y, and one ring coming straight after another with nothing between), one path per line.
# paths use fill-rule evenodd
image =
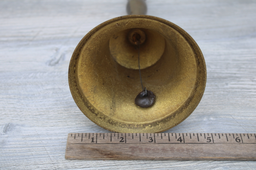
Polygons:
M255 144L155 144L157 146L152 145L154 144L68 144L66 159L256 160Z

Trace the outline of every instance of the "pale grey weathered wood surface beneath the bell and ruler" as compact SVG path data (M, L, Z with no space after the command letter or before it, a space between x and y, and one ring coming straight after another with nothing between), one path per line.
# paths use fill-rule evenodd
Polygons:
M167 132L255 133L256 1L147 0L148 14L187 31L207 66L196 110ZM0 169L255 169L254 161L66 160L70 132L108 132L68 87L82 37L125 13L125 0L0 1Z

